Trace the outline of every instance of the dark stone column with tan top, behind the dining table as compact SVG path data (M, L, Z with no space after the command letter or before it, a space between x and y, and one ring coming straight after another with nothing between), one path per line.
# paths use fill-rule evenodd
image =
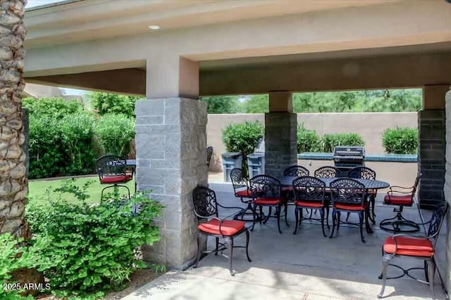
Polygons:
M269 93L265 114L265 173L280 176L286 167L297 164L297 115L292 112L292 93Z

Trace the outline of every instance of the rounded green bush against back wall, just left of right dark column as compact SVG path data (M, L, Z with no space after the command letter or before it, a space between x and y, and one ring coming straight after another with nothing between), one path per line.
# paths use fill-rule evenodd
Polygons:
M418 129L408 127L385 129L382 145L387 153L416 154L418 152Z

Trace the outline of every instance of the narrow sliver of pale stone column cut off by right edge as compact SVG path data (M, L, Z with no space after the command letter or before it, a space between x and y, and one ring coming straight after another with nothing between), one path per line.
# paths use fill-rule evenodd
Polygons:
M447 287L448 296L451 296L451 91L446 93L446 173L445 173L445 200L448 204L448 212L446 218L446 270L443 280Z

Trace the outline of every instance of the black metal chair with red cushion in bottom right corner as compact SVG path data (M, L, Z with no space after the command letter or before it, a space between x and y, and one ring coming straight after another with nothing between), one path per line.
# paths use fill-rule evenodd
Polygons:
M447 213L447 204L439 204L435 208L431 219L426 223L418 223L418 225L428 225L426 235L412 235L407 233L397 233L389 236L385 239L382 246L382 273L379 279L382 279L381 292L378 294L378 298L382 298L385 290L385 284L388 279L402 278L404 275L417 280L419 282L427 283L431 289L432 299L435 299L434 293L434 275L435 275L435 245L438 240L438 233L443 225L445 215ZM396 221L394 221L396 222ZM392 224L395 226L395 224ZM409 257L414 259L420 259L424 261L424 268L409 268L404 269L393 263L390 263L395 257ZM402 270L402 274L396 277L388 278L388 266L393 266ZM426 280L419 280L409 273L410 270L424 270ZM439 273L440 275L440 273Z

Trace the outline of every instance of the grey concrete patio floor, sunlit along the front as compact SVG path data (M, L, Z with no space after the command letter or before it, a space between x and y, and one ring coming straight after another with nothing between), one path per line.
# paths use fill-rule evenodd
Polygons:
M211 183L218 201L236 206L239 201L230 192L230 185ZM294 210L288 211L290 227L282 223L283 234L276 230L276 220L265 225L257 224L250 233L249 256L244 249L234 249L234 277L228 272L228 260L209 254L199 262L198 268L170 271L144 285L123 299L377 299L381 289L381 245L389 235L378 228L378 222L393 216L393 207L382 204L384 193L376 200L377 222L374 233L365 235L362 243L359 230L354 226L340 226L340 233L330 239L323 237L321 226L314 221L304 221L297 235L294 230ZM230 211L222 211L228 216ZM424 211L426 219L429 211ZM408 219L419 221L416 207L405 209ZM343 219L343 218L342 218ZM352 219L352 220L351 220ZM357 216L351 215L350 221ZM249 226L252 223L249 223ZM438 245L438 265L444 268L445 224ZM235 240L244 244L245 236ZM209 239L213 248L214 239ZM443 250L442 250L443 249ZM394 259L401 266L422 266L415 259ZM443 271L443 270L442 270ZM389 275L400 270L389 268ZM424 272L412 274L424 279ZM442 273L443 274L443 273ZM435 273L435 297L445 299L437 273ZM388 280L386 299L432 299L428 285L404 276Z

